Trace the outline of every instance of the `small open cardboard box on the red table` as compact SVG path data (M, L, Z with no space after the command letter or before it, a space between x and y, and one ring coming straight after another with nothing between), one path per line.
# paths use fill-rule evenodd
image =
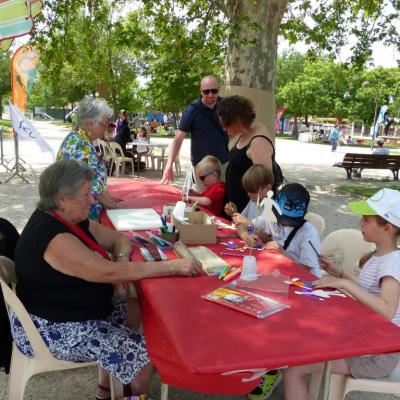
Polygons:
M188 218L182 224L172 215L172 223L179 231L179 240L188 244L213 244L217 243L217 226L211 223L210 216L203 211L185 213Z

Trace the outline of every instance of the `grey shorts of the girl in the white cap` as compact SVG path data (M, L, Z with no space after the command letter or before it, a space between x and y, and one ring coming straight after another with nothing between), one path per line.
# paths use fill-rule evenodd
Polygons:
M353 357L345 359L353 378L379 379L389 376L399 362L400 354Z

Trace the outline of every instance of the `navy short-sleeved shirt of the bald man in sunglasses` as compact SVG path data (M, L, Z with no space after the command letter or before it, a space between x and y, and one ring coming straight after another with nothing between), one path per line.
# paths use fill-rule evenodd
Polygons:
M178 129L191 134L193 165L208 155L217 157L221 164L228 161L228 135L222 129L216 107L218 105L213 109L206 107L200 97L190 103L182 114Z

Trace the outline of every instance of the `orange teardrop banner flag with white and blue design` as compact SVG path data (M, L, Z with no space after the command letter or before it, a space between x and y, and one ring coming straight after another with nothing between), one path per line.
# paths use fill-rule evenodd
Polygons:
M1 0L0 0L1 1ZM37 74L39 55L28 46L20 47L11 61L11 95L13 104L22 112L32 92Z

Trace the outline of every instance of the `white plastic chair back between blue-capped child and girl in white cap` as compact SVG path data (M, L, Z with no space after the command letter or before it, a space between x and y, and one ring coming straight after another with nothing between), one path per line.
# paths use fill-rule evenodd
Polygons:
M338 229L330 233L321 243L321 254L329 256L336 252L343 255L343 270L354 273L358 260L375 249L373 243L364 240L357 229Z

